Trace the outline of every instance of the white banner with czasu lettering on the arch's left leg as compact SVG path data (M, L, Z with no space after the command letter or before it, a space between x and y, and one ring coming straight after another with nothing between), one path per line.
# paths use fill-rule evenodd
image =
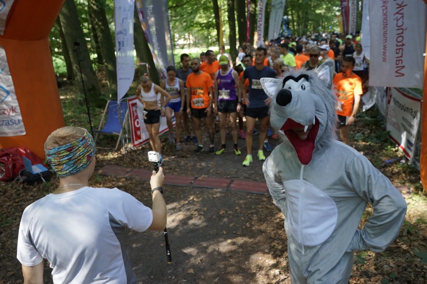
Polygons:
M2 0L0 0L0 3ZM24 122L9 71L5 49L0 46L0 137L25 135Z

